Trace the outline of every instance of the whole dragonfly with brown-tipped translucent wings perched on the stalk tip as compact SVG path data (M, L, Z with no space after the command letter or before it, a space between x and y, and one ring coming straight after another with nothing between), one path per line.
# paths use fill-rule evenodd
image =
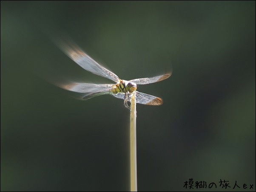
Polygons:
M56 41L55 41L56 42ZM147 104L147 105L161 105L163 100L159 97L148 95L137 91L137 85L145 85L154 82L159 82L167 79L171 76L171 73L166 73L160 76L146 77L140 79L132 79L129 81L120 79L116 74L102 67L88 54L82 51L77 45L71 41L58 40L57 46L74 62L80 65L86 71L94 73L98 76L102 76L111 79L115 84L91 84L81 82L71 82L64 85L58 85L59 87L82 94L80 99L88 100L95 96L103 94L111 94L119 99L124 99L124 105L127 108L128 101L130 102L132 93L135 93L136 103Z

